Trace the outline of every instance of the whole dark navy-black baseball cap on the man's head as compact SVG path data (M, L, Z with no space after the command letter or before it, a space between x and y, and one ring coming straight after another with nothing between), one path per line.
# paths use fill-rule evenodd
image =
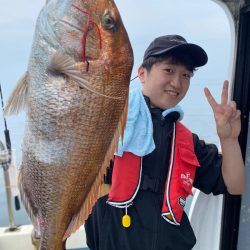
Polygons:
M185 38L179 35L166 35L157 37L146 49L143 61L150 56L165 54L166 52L183 52L190 54L194 67L200 67L207 63L207 53L200 46L188 43Z

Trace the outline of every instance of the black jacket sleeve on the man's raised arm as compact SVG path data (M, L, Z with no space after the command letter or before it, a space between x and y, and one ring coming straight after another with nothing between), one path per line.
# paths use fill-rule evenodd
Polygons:
M216 145L206 144L195 134L193 134L193 139L195 153L200 163L193 186L206 194L225 194L227 188L221 170L222 155L218 153Z

